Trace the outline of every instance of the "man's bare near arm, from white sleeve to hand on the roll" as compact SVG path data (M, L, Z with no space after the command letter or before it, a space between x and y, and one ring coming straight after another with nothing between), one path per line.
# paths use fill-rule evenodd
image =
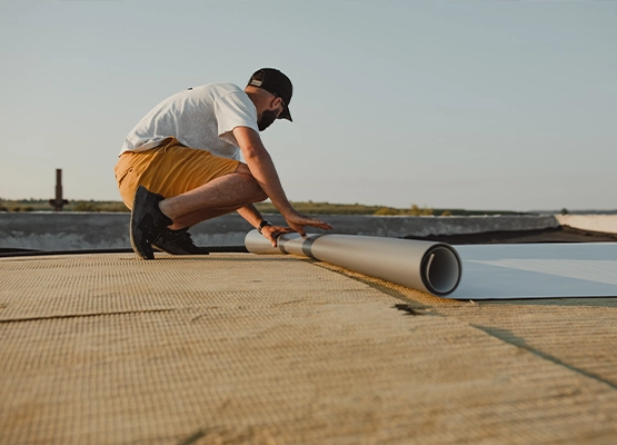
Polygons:
M305 235L305 226L314 226L321 229L332 228L328 222L310 218L296 211L296 209L291 207L280 184L272 158L270 154L268 154L268 150L266 150L266 147L263 147L257 131L248 127L236 127L233 129L233 136L242 150L242 155L252 177L268 198L270 198L275 207L280 211L291 229L298 231L300 235ZM255 211L257 211L257 209L255 209ZM249 217L252 216L249 215Z

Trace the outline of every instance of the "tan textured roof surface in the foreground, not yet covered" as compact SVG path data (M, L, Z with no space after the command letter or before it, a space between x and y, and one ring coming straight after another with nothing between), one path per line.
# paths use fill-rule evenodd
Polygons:
M607 444L617 299L307 258L0 258L0 444Z

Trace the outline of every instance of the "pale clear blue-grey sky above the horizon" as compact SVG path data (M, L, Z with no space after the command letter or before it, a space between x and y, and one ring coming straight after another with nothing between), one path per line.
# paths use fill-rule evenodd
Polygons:
M2 1L0 57L2 199L120 200L153 106L275 67L290 200L617 208L613 1Z

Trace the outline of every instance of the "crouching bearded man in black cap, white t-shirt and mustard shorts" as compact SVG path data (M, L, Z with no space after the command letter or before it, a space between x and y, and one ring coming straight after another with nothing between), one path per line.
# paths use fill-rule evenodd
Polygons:
M293 209L259 131L291 121L291 81L262 68L247 87L210 83L163 100L129 132L116 166L131 211L131 245L145 259L152 246L175 255L207 254L188 228L238 211L276 246L279 235L305 226L330 229ZM240 162L240 154L246 164ZM253 202L270 198L289 227L272 226Z

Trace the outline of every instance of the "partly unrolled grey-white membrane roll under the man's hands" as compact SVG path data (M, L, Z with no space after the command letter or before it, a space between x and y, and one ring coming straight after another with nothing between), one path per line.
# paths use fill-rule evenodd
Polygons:
M245 238L252 254L303 255L385 279L438 297L451 294L460 283L460 258L444 243L359 235L281 235L277 247L251 230Z

